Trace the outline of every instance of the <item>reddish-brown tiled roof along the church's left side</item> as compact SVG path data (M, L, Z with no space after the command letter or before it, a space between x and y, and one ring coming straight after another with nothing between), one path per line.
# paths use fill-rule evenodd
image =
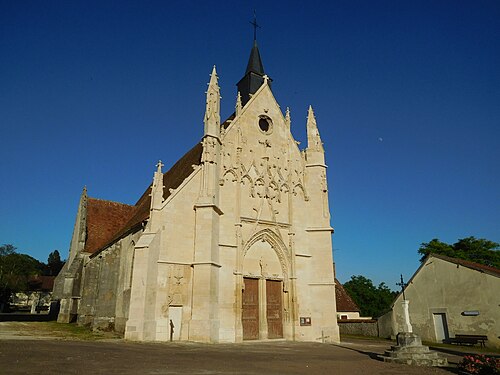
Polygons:
M193 172L193 165L201 164L202 150L201 143L197 143L163 174L163 199L170 196L170 189L178 188ZM89 198L85 251L95 256L127 234L142 228L142 223L149 218L150 193L151 185L135 206Z

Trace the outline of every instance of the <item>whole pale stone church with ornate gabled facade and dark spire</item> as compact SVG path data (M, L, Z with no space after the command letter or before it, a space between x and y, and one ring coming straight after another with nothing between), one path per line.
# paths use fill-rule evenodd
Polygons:
M135 205L80 198L59 322L138 341L338 342L323 143L290 132L254 41L235 112L213 68L202 135ZM196 127L193 131L196 131Z

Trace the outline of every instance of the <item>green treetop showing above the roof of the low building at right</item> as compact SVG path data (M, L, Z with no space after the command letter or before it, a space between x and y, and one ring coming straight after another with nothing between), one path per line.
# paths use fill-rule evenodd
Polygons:
M418 249L422 255L420 261L429 254L445 255L451 258L469 260L486 266L500 269L500 245L484 238L467 237L459 239L453 245L434 238L430 242L423 242Z

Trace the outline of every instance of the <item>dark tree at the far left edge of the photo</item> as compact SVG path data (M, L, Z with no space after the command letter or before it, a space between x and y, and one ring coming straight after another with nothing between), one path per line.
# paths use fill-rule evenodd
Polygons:
M13 245L0 246L0 311L12 293L27 290L30 277L42 273L43 264L26 254L19 254Z

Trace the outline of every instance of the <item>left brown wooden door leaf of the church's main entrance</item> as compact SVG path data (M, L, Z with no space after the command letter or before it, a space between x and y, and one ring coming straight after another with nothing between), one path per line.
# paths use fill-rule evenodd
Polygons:
M259 338L259 280L245 277L243 282L243 340L256 340Z

